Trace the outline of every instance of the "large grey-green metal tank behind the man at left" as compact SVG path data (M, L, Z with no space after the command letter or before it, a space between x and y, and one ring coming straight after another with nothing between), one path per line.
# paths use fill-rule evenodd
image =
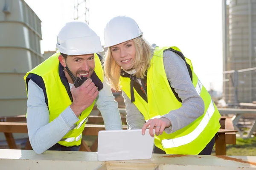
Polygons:
M23 77L44 60L41 20L24 0L0 0L0 10L0 116L22 115L27 108Z

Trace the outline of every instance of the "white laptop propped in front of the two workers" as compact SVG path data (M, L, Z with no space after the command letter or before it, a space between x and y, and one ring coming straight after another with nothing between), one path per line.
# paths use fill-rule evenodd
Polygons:
M98 161L151 159L154 137L148 129L142 135L138 130L102 130L98 136Z

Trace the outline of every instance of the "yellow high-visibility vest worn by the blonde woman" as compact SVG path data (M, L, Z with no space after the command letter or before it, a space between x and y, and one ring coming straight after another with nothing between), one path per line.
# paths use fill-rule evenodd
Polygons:
M151 66L147 72L147 99L148 102L134 90L134 104L143 114L145 121L168 114L172 110L181 107L173 93L163 65L163 51L169 48L180 51L177 47L156 47L154 56L151 59ZM202 85L193 71L192 62L187 59L186 62L192 70L192 83L197 93L204 100L204 114L186 127L167 134L155 136L155 145L164 150L167 154L199 154L204 147L211 141L220 128L220 113L211 99L208 91ZM120 77L122 90L131 99L130 89L131 79L129 77ZM188 111L189 112L189 111Z

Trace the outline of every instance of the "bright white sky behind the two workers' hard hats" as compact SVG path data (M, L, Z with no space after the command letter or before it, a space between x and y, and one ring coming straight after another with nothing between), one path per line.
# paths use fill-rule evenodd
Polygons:
M81 1L81 0L80 0ZM88 1L88 0L87 0ZM58 31L73 20L74 0L25 0L42 23L41 51L54 51ZM89 25L101 37L112 17L134 18L149 43L177 46L209 90L222 91L221 0L90 0Z

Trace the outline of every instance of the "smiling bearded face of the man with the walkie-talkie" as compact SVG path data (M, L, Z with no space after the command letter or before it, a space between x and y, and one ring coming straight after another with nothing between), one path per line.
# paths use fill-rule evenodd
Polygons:
M94 54L67 56L66 59L60 55L59 61L64 67L67 66L75 77L80 78L81 76L90 78L95 68ZM65 69L65 75L69 78L66 73L67 70Z

